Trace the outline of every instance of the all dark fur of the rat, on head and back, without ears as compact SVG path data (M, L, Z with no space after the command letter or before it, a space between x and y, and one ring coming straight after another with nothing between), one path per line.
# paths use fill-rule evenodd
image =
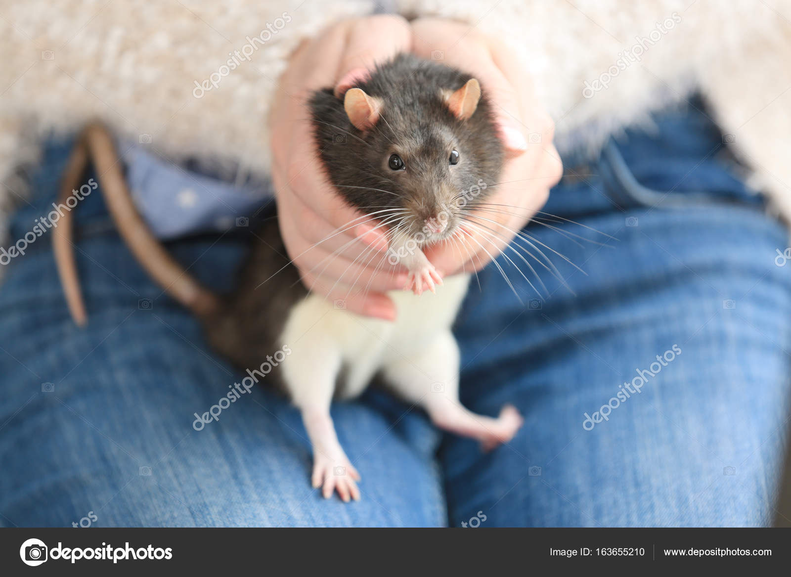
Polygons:
M350 123L343 98L335 97L332 89L314 93L309 103L314 135L327 177L339 195L365 213L381 207L409 208L414 234L422 229L423 219L479 180L496 184L504 151L485 91L467 120L453 116L441 97L444 90L459 89L470 78L413 55L396 56L357 85L384 102L380 120L369 131ZM451 166L448 158L454 149L460 161ZM396 174L387 165L394 152L407 165ZM483 192L477 200L486 195ZM257 236L262 241L255 242L226 308L205 319L210 343L244 369L259 366L264 355L281 346L278 338L291 308L308 294L286 257L277 219L267 220Z

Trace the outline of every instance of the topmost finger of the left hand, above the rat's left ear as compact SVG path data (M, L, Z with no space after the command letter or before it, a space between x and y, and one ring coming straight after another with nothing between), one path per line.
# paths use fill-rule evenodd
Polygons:
M411 51L412 32L400 16L380 14L354 21L346 40L346 51L336 76L335 96L368 78L377 64L399 52Z

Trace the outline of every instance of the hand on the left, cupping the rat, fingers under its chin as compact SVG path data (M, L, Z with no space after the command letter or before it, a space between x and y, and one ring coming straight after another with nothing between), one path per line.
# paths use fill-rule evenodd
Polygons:
M280 232L305 286L344 301L355 313L385 320L395 318L395 306L384 293L403 288L406 271L377 271L388 248L386 230L344 203L327 181L306 102L316 89L347 88L375 63L410 50L410 27L401 17L334 25L292 55L270 117Z

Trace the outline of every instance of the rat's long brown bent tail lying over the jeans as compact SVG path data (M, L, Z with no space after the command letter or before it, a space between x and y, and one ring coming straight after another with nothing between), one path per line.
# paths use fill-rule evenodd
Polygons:
M100 124L93 123L86 127L75 144L63 175L59 202L65 203L72 191L79 188L79 180L85 173L89 157L93 160L115 226L142 267L163 290L199 317L216 312L219 308L217 296L202 287L165 251L134 207L112 137ZM74 260L74 244L71 241L73 222L71 211L64 211L53 231L55 237L52 244L69 312L77 325L84 326L88 322L88 314L85 312Z

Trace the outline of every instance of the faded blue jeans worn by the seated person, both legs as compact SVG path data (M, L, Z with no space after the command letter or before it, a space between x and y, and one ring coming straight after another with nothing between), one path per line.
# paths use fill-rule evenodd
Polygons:
M698 108L664 112L594 161L565 159L554 216L525 233L567 287L531 261L539 297L505 258L519 298L497 268L473 279L456 326L462 400L489 415L516 404L512 442L482 454L377 390L335 404L359 503L309 487L301 419L266 387L195 430L193 413L239 375L91 195L77 239L88 327L70 321L47 235L0 287L0 523L766 525L789 405L791 266L775 264L787 233ZM13 238L46 212L67 151L47 149ZM168 248L227 290L245 242Z

